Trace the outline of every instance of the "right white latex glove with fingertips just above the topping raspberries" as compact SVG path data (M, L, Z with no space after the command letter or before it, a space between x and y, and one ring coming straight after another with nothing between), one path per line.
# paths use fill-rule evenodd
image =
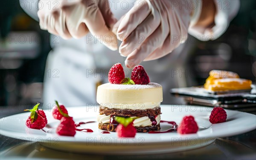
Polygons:
M186 41L192 13L186 6L189 1L139 0L115 24L113 31L123 41L119 53L127 56L128 68L163 57Z

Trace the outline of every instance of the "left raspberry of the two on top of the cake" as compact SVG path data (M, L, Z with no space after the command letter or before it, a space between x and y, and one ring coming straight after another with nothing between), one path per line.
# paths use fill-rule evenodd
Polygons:
M125 78L125 72L120 63L114 64L108 72L108 81L111 84L120 84Z

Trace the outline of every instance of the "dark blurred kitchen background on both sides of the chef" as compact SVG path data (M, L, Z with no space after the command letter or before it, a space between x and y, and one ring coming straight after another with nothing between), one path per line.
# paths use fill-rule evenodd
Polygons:
M256 0L241 0L239 14L217 40L193 45L180 58L194 80L202 85L211 69L237 72L256 81ZM19 0L0 4L0 106L42 103L49 33L21 9ZM179 86L177 86L179 87Z

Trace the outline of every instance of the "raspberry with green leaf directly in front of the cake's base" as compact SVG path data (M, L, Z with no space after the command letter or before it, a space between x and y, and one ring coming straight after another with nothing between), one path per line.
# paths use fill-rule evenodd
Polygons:
M133 126L133 123L130 123L128 126L123 126L122 124L117 125L116 132L118 137L135 137L136 128Z

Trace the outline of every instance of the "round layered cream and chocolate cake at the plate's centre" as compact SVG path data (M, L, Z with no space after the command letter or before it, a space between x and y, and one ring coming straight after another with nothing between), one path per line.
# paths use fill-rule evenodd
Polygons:
M134 118L133 126L137 132L160 130L162 86L157 83L149 83L149 80L147 84L143 84L138 79L145 81L146 78L143 76L146 74L140 75L139 71L136 74L139 74L135 76L137 79L133 77L132 72L131 79L134 81L131 80L131 84L128 84L127 80L124 82L122 80L123 83L105 83L98 86L96 100L100 104L97 117L99 129L116 131L118 123L115 121L115 117L118 116ZM109 81L112 82L110 79Z

